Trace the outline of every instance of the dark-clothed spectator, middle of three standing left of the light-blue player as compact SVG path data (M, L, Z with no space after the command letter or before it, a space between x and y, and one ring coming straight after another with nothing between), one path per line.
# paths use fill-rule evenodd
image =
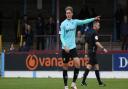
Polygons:
M41 17L40 15L37 17L37 21L36 21L36 35L38 35L37 37L37 50L40 49L40 44L42 46L42 50L44 50L44 18ZM43 36L43 37L42 37Z

